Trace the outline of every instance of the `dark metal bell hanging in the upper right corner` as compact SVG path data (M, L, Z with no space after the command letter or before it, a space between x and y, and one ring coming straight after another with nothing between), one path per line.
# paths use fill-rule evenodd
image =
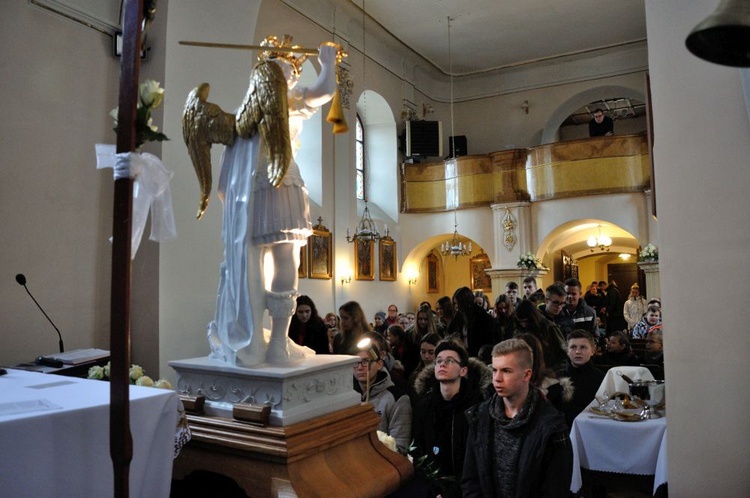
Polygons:
M750 67L750 2L722 0L685 40L693 55L723 66Z

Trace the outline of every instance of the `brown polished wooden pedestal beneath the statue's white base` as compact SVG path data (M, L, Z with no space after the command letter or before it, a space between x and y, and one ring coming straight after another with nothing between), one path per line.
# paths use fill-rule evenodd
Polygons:
M378 440L379 420L369 403L286 427L188 415L192 440L175 460L173 476L216 472L261 498L385 496L413 467Z

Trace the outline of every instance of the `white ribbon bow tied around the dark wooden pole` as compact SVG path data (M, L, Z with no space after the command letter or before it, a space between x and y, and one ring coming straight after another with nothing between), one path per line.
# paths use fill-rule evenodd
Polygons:
M161 242L177 238L169 171L161 159L148 152L116 153L114 145L96 144L96 168L113 168L115 180L133 178L133 230L131 234L131 259L135 258L146 228L151 209L151 235L149 239ZM111 239L110 239L111 240Z

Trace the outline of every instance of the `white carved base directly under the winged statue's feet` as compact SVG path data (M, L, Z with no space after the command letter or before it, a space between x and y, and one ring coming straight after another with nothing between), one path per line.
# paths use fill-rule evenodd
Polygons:
M352 356L317 355L291 366L244 368L208 357L169 362L177 391L206 398L208 415L232 418L236 403L269 405L271 425L287 426L358 405Z

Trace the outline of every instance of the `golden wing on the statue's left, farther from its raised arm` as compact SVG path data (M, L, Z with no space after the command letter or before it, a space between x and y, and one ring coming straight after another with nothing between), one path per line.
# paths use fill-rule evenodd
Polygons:
M235 137L235 117L218 105L207 102L211 86L202 83L188 95L182 112L182 137L188 148L201 190L196 218L208 208L211 195L211 144L231 145Z

